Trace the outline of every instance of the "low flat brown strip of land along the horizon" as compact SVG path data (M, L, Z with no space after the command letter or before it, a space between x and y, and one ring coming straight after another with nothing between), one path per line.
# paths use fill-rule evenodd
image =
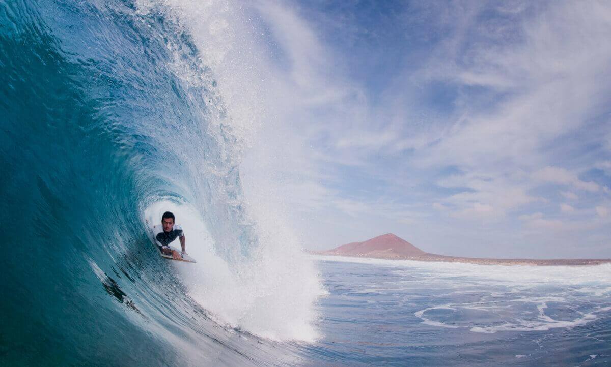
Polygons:
M588 266L611 263L611 258L568 258L568 259L532 259L532 258L479 258L479 257L457 257L436 254L422 254L419 256L372 256L367 254L337 254L331 252L308 251L315 255L331 255L358 258L378 258L383 260L414 260L424 262L448 262L467 263L477 265L522 265L522 266Z

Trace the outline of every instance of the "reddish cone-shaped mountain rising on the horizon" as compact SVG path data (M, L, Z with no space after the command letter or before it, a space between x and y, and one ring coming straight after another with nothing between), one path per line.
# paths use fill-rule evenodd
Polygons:
M367 257L418 257L426 255L426 252L392 233L371 238L371 240L364 242L343 244L323 253Z

